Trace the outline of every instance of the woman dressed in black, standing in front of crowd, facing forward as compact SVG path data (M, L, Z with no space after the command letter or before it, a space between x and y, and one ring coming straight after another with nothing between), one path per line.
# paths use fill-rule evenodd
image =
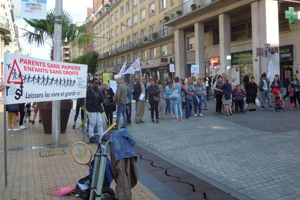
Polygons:
M156 117L156 123L158 123L158 102L160 101L159 96L159 88L157 85L155 85L155 80L152 78L150 80L150 86L148 86L148 96L149 96L149 103L150 103L150 110L151 110L151 120L154 123L154 110L155 110L155 117Z

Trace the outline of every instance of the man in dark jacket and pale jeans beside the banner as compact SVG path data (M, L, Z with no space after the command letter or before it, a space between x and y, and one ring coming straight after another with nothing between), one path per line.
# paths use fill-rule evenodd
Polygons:
M103 92L98 88L99 79L93 78L91 80L91 87L86 91L86 109L88 112L89 126L88 126L88 134L89 134L89 142L97 143L96 137L94 135L94 127L96 125L98 133L100 135L103 134L103 125L100 113L100 105L101 103L105 103L105 97L103 96Z

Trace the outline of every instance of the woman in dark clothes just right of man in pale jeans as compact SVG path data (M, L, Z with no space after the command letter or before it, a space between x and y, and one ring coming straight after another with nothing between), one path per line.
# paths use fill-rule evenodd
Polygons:
M109 125L112 124L112 116L113 116L113 96L114 92L111 87L108 87L107 84L103 83L101 84L101 89L103 92L103 95L106 99L106 102L103 103L103 108L106 116L106 127L109 127Z

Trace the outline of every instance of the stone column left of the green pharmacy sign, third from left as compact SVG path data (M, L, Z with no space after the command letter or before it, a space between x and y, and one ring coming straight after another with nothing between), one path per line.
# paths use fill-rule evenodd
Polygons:
M231 60L227 59L231 53L230 49L230 16L229 14L222 13L219 18L219 39L220 39L220 72L226 73L231 77Z

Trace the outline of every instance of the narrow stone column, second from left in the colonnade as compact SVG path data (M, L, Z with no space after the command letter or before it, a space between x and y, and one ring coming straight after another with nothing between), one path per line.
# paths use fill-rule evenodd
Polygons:
M204 50L204 24L195 23L195 64L199 65L199 76L203 78L205 76L205 50Z

